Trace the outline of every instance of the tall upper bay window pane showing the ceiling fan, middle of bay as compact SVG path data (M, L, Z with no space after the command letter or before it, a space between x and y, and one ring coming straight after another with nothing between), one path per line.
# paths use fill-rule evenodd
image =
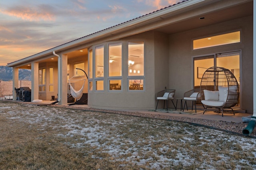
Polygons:
M108 76L122 76L122 43L108 45Z

